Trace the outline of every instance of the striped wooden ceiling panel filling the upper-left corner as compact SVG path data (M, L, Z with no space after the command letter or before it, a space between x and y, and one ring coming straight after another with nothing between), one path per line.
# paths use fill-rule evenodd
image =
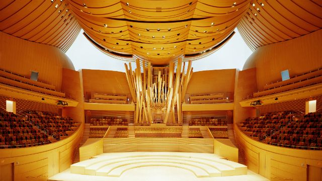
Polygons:
M81 27L67 1L0 1L0 31L66 52Z

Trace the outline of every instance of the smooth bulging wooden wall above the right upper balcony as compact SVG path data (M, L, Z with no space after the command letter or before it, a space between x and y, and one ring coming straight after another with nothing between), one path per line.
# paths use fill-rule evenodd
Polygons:
M256 67L257 88L281 80L281 71L290 77L321 68L322 30L285 42L258 48L246 61L244 70Z

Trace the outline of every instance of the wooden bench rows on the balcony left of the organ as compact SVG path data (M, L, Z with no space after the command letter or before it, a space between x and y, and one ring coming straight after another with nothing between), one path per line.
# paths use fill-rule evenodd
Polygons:
M90 103L127 104L125 95L97 94L90 99Z

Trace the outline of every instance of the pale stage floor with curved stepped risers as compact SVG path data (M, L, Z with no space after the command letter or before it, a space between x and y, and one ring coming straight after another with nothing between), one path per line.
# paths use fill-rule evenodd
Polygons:
M211 153L103 153L81 161L48 180L268 180L245 165Z

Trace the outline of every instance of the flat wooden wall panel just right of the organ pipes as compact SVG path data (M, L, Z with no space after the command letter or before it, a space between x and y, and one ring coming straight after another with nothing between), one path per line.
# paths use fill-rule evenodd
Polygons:
M186 94L212 94L234 92L236 69L194 72ZM231 99L231 98L229 98Z

